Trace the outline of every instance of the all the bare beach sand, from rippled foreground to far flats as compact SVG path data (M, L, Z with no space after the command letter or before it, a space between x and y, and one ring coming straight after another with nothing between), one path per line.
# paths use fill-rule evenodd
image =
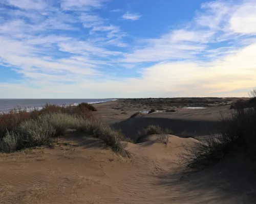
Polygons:
M195 172L180 162L184 144L218 133L220 111L230 114L230 104L132 118L141 107L125 99L94 106L94 117L133 140L125 147L132 156L121 157L97 138L72 130L53 148L1 154L1 203L255 203L254 164L244 154ZM173 134L165 135L165 142L150 135L135 143L137 131L149 124Z

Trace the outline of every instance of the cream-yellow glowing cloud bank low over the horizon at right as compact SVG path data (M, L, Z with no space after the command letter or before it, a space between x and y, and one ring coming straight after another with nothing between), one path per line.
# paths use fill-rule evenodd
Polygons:
M119 97L133 97L136 93L141 97L214 96L218 92L255 86L255 52L256 43L215 62L160 63L144 69L139 79L89 83L95 91L105 91L106 95L116 93ZM152 95L148 95L148 90ZM177 93L168 94L173 91ZM247 93L241 94L246 96Z

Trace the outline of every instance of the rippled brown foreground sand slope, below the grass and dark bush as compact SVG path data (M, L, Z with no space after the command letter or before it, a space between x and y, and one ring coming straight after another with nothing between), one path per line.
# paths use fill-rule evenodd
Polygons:
M184 174L177 153L197 140L156 138L129 143L133 159L70 134L54 149L1 154L0 203L255 203L253 167L241 155Z

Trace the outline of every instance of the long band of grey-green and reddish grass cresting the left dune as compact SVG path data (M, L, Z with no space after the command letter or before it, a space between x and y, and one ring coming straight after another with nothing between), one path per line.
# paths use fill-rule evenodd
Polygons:
M13 125L11 131L1 135L0 151L13 152L37 145L49 145L54 137L64 134L68 129L81 131L102 140L117 154L130 156L125 150L124 136L100 120L81 115L53 112L44 113L35 119L26 118Z

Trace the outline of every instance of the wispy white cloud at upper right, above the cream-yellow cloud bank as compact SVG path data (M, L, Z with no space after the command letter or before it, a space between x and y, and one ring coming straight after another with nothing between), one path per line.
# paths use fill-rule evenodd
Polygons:
M245 12L248 8L256 10L255 6L256 3L252 1L241 5L221 1L205 3L202 10L183 29L171 30L156 39L144 39L145 45L126 54L122 61L138 63L216 59L217 55L212 55L209 43L228 42L226 51L231 52L241 47L242 42L255 36L255 27L252 25L256 22L256 14ZM226 45L223 49L225 47ZM230 52L220 52L218 57Z

